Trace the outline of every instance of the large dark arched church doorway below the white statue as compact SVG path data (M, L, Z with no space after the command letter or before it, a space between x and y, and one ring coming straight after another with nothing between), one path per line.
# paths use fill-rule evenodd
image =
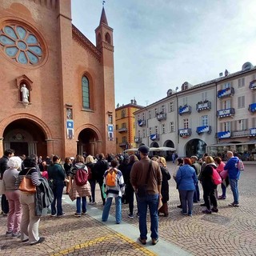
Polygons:
M37 123L27 118L10 122L3 132L3 150L13 149L15 155L37 154L46 157L46 135Z

